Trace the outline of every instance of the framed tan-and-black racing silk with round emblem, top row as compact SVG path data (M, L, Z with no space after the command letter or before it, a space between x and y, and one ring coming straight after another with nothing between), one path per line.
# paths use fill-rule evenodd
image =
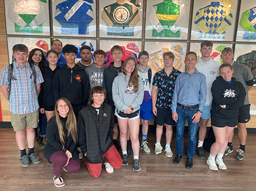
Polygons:
M99 33L108 38L142 38L143 0L99 1Z

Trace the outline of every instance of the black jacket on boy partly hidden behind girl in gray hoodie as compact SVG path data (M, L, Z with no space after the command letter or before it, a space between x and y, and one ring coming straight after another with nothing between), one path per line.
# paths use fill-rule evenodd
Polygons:
M112 108L115 108L115 103L113 102L113 99L112 99L112 85L115 77L118 75L118 73L121 72L121 68L118 71L113 66L113 64L114 62L111 62L109 67L107 67L103 72L103 87L106 89L106 92L107 92L105 103L111 105Z

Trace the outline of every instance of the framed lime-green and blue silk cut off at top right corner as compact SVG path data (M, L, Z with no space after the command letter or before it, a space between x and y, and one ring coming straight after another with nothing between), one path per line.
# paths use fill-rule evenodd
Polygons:
M237 27L237 41L256 41L256 2L241 1Z

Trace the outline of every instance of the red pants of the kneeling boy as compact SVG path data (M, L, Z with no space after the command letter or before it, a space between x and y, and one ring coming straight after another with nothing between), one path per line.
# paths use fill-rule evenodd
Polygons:
M103 158L104 161L106 163L109 163L114 169L121 168L121 166L123 165L122 158L116 150L116 147L113 145L106 153L103 154ZM86 165L90 172L90 175L92 175L94 178L98 178L100 176L102 163L92 164L86 162Z

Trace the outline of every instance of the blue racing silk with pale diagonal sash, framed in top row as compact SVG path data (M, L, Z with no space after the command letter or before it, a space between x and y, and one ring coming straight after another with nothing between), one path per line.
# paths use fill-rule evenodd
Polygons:
M93 0L67 0L56 5L55 19L62 34L89 34L89 23L94 19Z

